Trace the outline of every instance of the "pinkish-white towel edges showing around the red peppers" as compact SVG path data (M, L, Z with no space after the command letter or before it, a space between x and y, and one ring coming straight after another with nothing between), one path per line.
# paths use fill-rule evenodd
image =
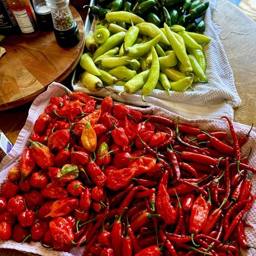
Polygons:
M38 95L38 97L34 100L33 104L29 109L28 118L25 126L21 130L17 142L13 146L11 152L3 158L3 161L0 163L0 191L2 184L6 181L6 175L8 171L12 168L12 166L19 161L20 155L23 149L28 145L28 139L33 132L33 127L36 119L40 114L44 112L44 109L47 105L49 105L51 97L58 97L69 93L70 91L63 85L59 83L52 83L47 91ZM172 113L169 110L160 108L160 107L150 107L146 109L142 109L139 107L133 107L134 109L141 110L143 113L153 113L154 115L161 115L170 119L175 120L177 118L177 114ZM180 115L179 115L180 116ZM229 126L227 121L225 120L217 120L217 119L197 119L191 120L180 116L181 122L187 122L191 125L198 126L201 130L205 131L229 131ZM234 123L235 131L238 134L238 137L247 133L250 130L250 127L244 124ZM232 141L231 134L227 136L228 141ZM251 135L249 137L249 141L242 147L242 155L247 155L250 146L252 147L252 155L249 159L249 164L256 167L256 129L253 128L251 131ZM252 193L255 195L256 191L256 177L252 176ZM254 203L252 209L247 214L247 222L249 222L253 228L246 228L246 236L249 244L256 245L256 203ZM9 248L15 249L23 252L36 253L44 256L51 255L61 255L61 256L81 256L84 250L82 248L71 249L69 252L57 252L52 249L45 249L40 243L30 242L30 243L16 243L12 240L10 241L0 241L0 248ZM243 256L253 256L255 255L254 249L249 249L247 252L243 252Z

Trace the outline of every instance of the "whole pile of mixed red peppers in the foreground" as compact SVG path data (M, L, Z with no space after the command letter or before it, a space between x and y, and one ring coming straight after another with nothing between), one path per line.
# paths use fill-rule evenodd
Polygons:
M250 131L207 133L111 97L52 97L0 197L0 238L83 256L238 256L254 250ZM233 143L225 141L231 133Z

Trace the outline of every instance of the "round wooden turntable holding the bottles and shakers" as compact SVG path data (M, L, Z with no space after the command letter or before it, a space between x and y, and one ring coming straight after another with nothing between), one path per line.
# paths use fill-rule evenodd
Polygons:
M71 6L81 41L74 47L62 48L53 31L42 32L31 39L20 35L6 37L1 46L6 53L0 58L0 110L22 105L46 90L47 85L62 82L83 52L83 20Z

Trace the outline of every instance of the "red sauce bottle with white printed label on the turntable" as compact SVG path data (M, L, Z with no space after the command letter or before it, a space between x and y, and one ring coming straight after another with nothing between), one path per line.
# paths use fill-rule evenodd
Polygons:
M6 0L15 17L24 37L32 38L39 35L40 31L36 15L29 0Z

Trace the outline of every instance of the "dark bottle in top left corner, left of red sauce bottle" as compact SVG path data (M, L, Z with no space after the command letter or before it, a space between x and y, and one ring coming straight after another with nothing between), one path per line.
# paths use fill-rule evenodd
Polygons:
M5 0L0 0L0 35L13 36L20 32L19 26Z

